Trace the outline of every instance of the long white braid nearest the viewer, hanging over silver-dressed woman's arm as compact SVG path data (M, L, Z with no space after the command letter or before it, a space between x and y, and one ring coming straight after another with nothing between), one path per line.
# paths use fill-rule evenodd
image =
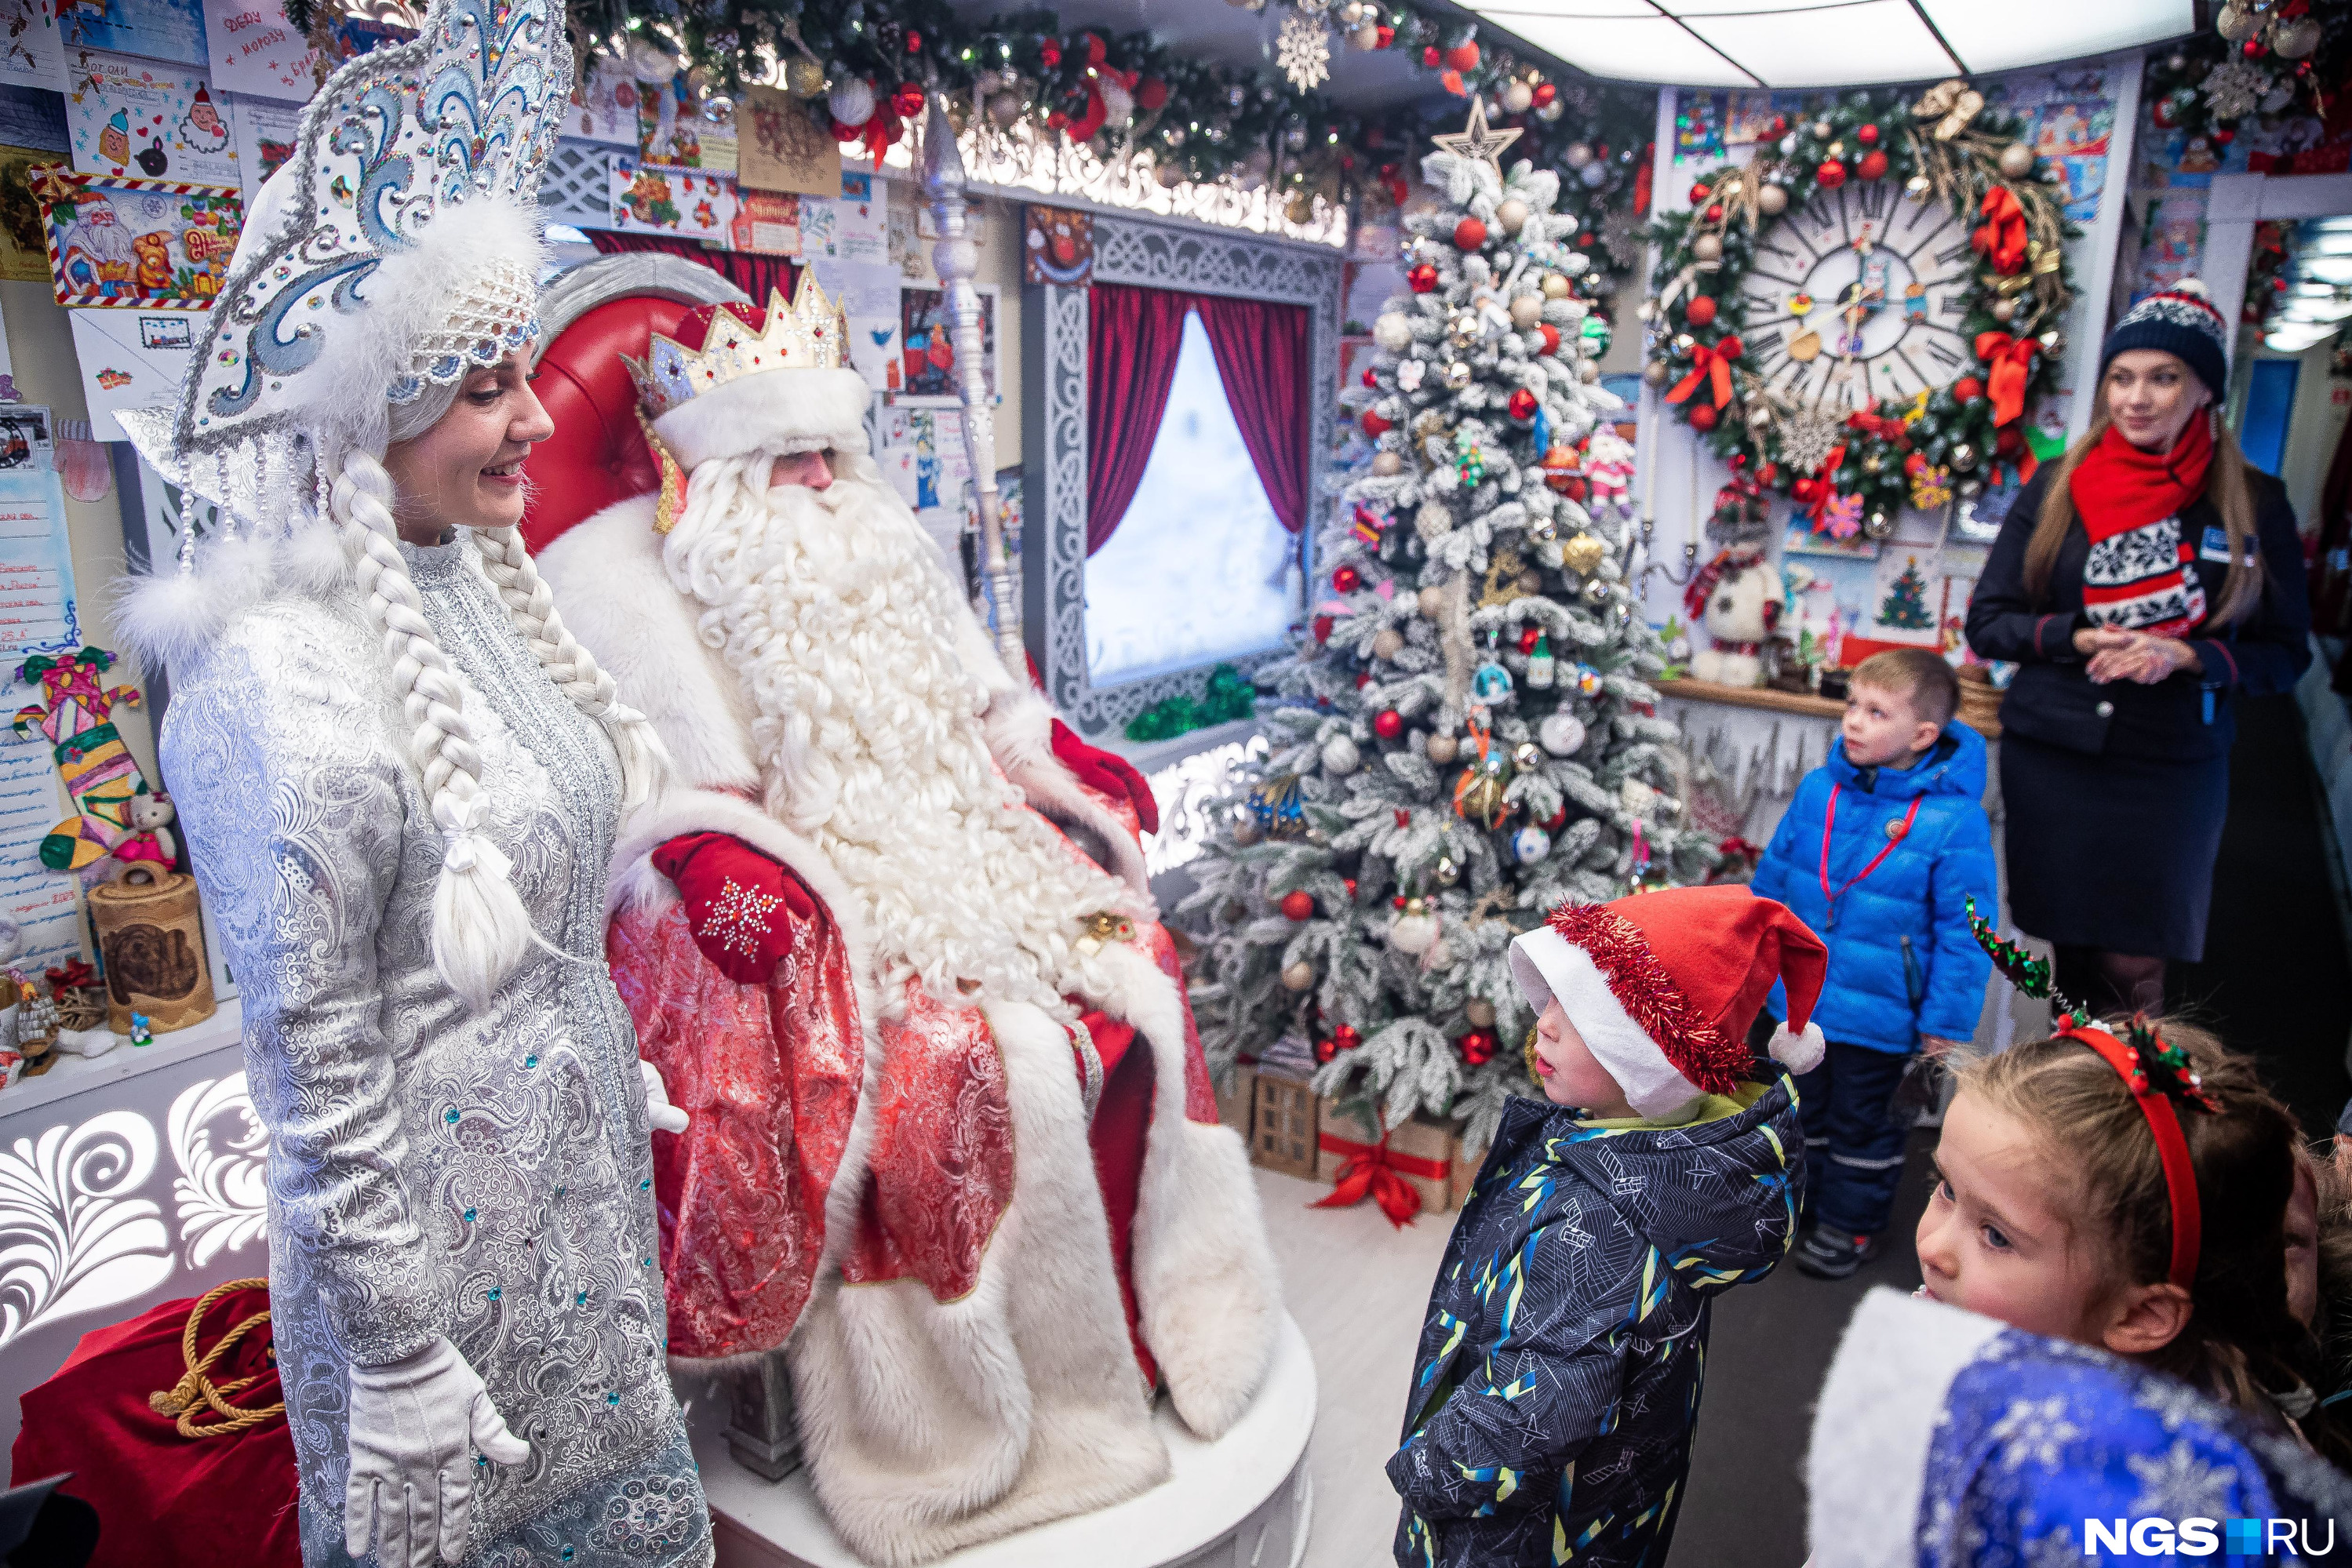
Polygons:
M334 477L332 508L367 597L383 628L393 684L414 731L409 762L423 773L433 820L447 842L433 886L433 966L468 1006L482 1011L532 940L532 919L506 879L506 856L489 842L489 795L482 755L466 719L466 682L426 623L416 583L400 557L393 524L393 477L369 451L348 451Z

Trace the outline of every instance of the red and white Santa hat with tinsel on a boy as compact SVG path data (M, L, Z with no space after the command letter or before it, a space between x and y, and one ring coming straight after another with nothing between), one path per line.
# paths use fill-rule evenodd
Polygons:
M1595 1060L1644 1117L1748 1077L1748 1027L1773 980L1788 1023L1771 1053L1790 1072L1820 1065L1813 1001L1830 950L1745 886L1665 889L1616 903L1559 905L1510 945L1510 973L1538 1013L1559 997Z

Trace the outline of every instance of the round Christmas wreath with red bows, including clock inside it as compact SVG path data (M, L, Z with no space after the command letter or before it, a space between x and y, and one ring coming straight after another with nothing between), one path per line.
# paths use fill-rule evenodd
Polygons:
M1656 223L1644 376L1828 538L2032 477L2074 299L2063 172L1943 82L1816 99Z

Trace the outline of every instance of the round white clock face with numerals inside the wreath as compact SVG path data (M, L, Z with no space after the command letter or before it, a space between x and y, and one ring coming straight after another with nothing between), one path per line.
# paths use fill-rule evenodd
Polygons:
M1759 237L1740 280L1748 364L1799 407L1867 409L1947 386L1976 360L1969 226L1893 181L1820 190Z

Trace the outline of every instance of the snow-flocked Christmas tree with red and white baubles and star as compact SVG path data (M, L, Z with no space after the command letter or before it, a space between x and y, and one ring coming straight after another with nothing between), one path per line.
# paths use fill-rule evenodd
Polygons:
M1371 454L1317 538L1331 597L1261 672L1270 755L1192 863L1211 1063L1312 1044L1315 1086L1468 1119L1529 1091L1510 938L1562 900L1696 882L1665 665L1628 592L1632 449L1599 423L1606 322L1559 176L1439 136L1404 219L1411 294L1343 395Z

